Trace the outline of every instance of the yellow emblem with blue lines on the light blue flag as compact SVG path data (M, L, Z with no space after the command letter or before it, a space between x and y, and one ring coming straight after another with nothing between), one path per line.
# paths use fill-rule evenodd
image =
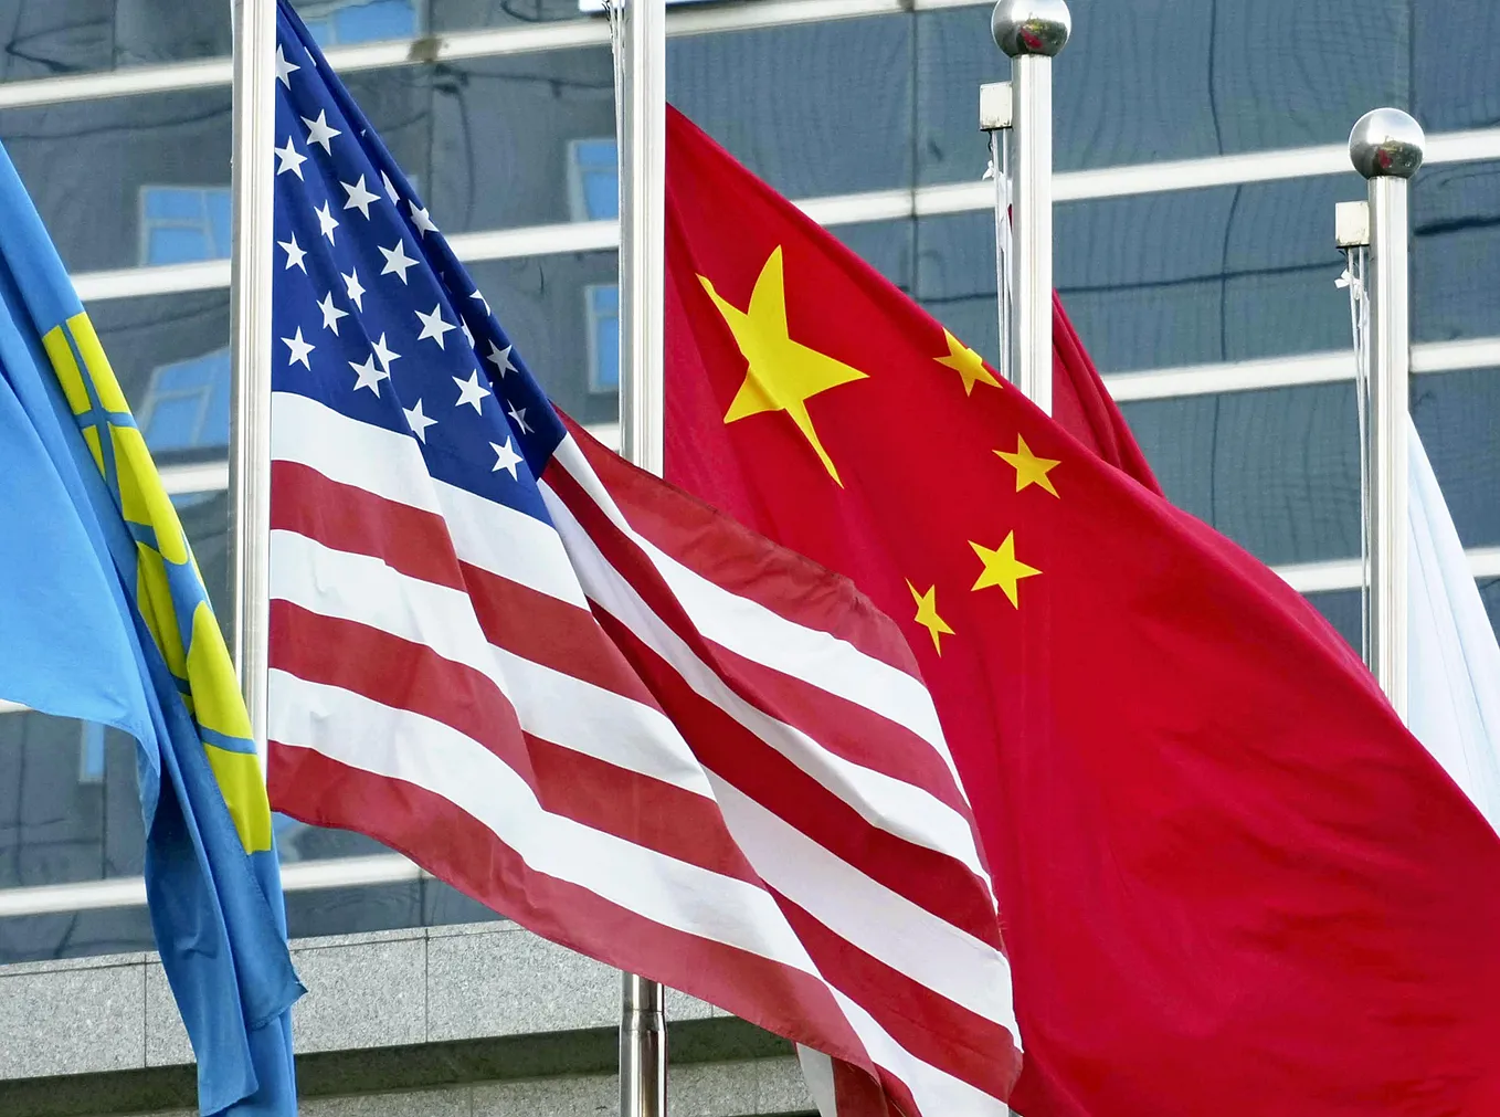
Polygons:
M135 607L198 727L240 844L246 853L270 850L270 802L234 664L177 509L99 335L87 314L75 314L52 326L42 345L94 465L135 537Z

